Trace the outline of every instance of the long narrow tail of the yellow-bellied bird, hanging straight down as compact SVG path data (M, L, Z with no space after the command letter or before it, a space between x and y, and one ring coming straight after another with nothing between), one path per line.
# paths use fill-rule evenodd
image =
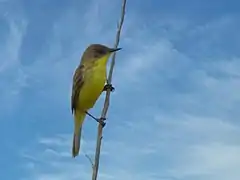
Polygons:
M80 151L82 124L85 119L85 116L86 116L85 112L75 111L74 134L73 134L73 145L72 145L72 156L73 157L76 157Z

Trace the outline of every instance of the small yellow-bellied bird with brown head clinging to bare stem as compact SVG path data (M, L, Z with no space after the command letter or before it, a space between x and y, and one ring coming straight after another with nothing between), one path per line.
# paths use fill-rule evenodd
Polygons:
M80 151L82 124L86 113L104 90L108 59L113 52L120 49L91 44L83 53L81 62L75 70L71 97L71 109L74 114L73 157Z

